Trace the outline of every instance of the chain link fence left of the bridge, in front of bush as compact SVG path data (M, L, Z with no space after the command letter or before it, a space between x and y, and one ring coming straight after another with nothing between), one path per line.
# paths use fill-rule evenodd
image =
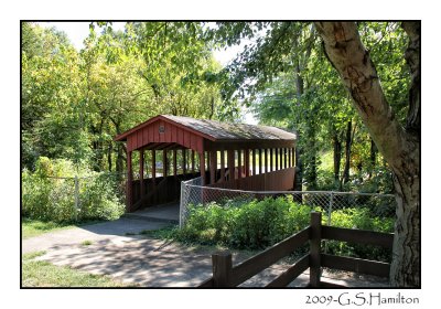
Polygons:
M71 222L122 214L126 174L22 174L22 214L32 219Z

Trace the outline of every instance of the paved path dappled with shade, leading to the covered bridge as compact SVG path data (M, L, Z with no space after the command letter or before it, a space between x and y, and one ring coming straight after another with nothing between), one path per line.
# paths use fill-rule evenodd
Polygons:
M157 230L170 225L170 217L162 217L164 209L153 210L158 215L149 219L141 215L130 215L114 222L63 230L41 236L24 239L22 252L45 251L37 259L51 262L54 265L86 270L93 274L110 275L123 283L141 287L195 287L212 275L212 252L196 249L165 241L158 241L139 235L144 230ZM175 213L175 209L169 207ZM128 235L128 233L130 235ZM132 235L136 234L136 235ZM85 241L90 245L82 244ZM248 256L233 254L233 264ZM244 283L243 287L262 287L288 265L273 265L261 274ZM323 274L332 277L335 274ZM308 273L301 275L291 287L308 284ZM356 287L385 287L384 281L365 281L349 276L327 279L334 284Z

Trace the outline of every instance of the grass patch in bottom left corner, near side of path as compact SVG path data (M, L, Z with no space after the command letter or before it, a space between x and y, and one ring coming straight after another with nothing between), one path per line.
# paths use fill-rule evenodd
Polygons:
M44 255L34 252L22 256L23 287L133 287L112 279L110 276L93 275L49 262L34 260Z

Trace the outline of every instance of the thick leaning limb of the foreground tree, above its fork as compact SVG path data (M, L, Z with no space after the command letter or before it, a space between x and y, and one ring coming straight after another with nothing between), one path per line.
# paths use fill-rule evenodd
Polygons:
M316 22L325 53L348 89L363 122L391 168L408 152L406 131L395 118L354 22Z

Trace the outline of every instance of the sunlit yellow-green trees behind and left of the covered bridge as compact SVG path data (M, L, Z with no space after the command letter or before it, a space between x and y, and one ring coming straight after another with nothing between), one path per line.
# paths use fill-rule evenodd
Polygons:
M22 23L22 167L40 157L123 172L112 138L159 114L232 119L200 22L89 26L76 51L65 33ZM137 162L133 162L135 164Z

